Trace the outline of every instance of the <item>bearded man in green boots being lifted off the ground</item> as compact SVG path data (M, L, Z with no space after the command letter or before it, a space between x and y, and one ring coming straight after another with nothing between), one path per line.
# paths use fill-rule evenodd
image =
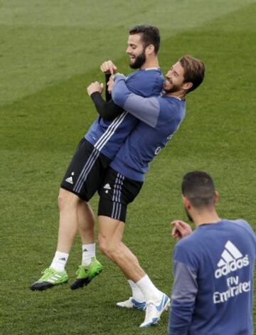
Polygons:
M130 74L126 83L132 92L143 97L158 96L162 89L164 78L157 58L159 45L159 29L154 26L136 26L129 31L129 63L131 68L139 70ZM109 75L117 67L107 61L102 64L101 70ZM102 85L100 92L95 92L94 88L95 83L92 83L87 90L95 107L103 114L109 114L93 122L68 166L58 198L60 225L55 256L43 276L31 285L32 290L48 289L68 282L65 265L78 230L82 240L82 264L71 288L87 285L102 271L102 265L95 257L95 218L89 201L102 184L110 161L139 121L114 105L112 100L105 102L100 95ZM92 92L95 93L92 95Z

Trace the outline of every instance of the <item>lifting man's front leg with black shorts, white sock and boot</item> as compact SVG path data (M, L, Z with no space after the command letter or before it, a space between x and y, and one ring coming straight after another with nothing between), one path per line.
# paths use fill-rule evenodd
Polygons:
M127 204L137 196L142 183L126 179L111 169L106 174L105 181L110 188L100 190L100 249L142 292L147 308L146 318L141 326L150 326L159 320L161 313L169 306L169 297L154 286L139 265L137 257L122 243Z

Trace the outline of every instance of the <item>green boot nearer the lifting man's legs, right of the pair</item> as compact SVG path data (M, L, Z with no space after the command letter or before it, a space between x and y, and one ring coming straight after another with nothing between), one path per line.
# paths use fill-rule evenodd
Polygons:
M92 257L90 265L80 265L78 267L78 271L75 272L78 277L71 285L71 289L79 289L79 287L88 285L100 272L102 272L102 265L96 257Z

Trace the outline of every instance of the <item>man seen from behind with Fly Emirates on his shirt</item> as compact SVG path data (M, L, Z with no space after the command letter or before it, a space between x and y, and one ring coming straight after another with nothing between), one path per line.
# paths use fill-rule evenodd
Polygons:
M190 226L175 220L174 288L169 335L252 335L253 270L256 238L242 219L220 218L218 193L203 171L182 181Z

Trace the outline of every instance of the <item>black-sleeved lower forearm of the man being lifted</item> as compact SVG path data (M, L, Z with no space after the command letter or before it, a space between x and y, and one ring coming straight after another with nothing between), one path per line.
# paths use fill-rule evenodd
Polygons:
M123 112L122 108L115 105L113 100L105 101L100 92L93 92L90 97L95 104L97 112L105 121L110 121Z

